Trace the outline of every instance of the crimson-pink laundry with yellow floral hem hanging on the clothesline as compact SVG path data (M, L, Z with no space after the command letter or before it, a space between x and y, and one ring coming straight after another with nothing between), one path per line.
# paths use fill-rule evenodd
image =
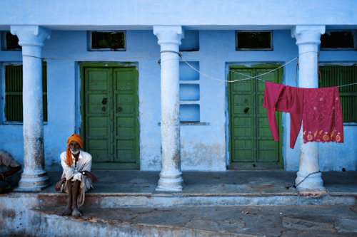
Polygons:
M275 112L290 112L290 147L303 121L303 142L343 142L343 120L338 88L295 88L266 81L266 108L274 141L279 140Z

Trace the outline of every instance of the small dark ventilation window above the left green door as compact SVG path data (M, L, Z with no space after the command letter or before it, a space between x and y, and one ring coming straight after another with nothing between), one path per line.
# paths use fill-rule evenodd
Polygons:
M126 51L125 31L89 31L89 51Z

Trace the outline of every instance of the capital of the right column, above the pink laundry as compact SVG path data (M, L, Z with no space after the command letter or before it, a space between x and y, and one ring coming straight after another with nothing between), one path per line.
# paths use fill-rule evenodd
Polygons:
M320 44L321 35L326 26L294 26L291 28L291 37L296 38L296 45Z

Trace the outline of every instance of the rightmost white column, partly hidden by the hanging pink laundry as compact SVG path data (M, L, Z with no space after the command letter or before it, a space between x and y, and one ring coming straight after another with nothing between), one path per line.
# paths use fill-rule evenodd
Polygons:
M291 36L296 38L298 46L298 86L300 88L318 88L318 45L325 26L295 26ZM301 126L302 127L302 126ZM300 132L300 167L296 177L299 184L309 174L318 172L318 143L303 143L302 128ZM321 172L311 174L297 186L300 194L310 195L311 191L325 191Z

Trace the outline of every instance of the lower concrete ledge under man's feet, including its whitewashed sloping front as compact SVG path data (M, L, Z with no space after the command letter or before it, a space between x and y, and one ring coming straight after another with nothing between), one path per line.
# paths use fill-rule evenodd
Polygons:
M81 208L80 218L60 216L63 210L64 207L31 209L22 225L31 228L20 225L16 233L23 236L357 236L357 214L350 206L121 209L87 206Z

